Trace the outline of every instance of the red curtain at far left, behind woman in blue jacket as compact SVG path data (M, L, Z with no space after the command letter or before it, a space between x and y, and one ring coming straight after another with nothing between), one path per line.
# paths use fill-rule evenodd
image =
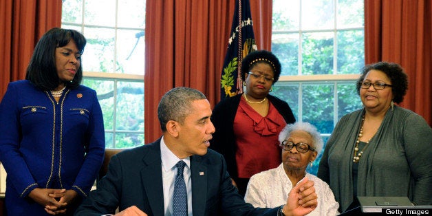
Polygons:
M61 26L61 1L0 1L0 100L8 83L25 78L34 46L51 28Z

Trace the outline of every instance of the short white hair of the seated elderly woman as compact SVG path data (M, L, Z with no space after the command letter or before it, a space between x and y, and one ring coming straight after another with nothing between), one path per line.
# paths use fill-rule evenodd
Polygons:
M323 138L321 138L320 133L317 131L314 125L307 122L295 122L294 124L286 125L281 133L279 133L279 143L281 144L284 140L290 137L292 131L305 131L312 136L312 142L308 143L311 147L315 148L315 151L319 154L323 149Z

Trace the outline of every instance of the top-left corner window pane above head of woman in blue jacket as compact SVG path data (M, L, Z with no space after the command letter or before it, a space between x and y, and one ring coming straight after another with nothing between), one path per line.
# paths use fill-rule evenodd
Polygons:
M61 10L61 22L78 23L82 22L83 17L82 0L63 0Z

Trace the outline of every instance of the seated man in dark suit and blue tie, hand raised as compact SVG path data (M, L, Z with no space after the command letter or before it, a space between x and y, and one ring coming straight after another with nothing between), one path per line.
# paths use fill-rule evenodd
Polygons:
M114 213L118 206L119 215L276 216L305 215L316 207L314 182L307 180L278 208L245 203L222 155L208 149L215 132L211 113L206 96L196 89L168 91L158 107L162 138L114 155L107 175L76 215Z

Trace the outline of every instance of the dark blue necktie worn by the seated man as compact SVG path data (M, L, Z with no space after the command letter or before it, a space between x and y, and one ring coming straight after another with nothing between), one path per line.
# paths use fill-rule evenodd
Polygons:
M188 215L188 195L184 183L183 169L186 163L182 160L175 164L177 176L174 181L173 216Z

